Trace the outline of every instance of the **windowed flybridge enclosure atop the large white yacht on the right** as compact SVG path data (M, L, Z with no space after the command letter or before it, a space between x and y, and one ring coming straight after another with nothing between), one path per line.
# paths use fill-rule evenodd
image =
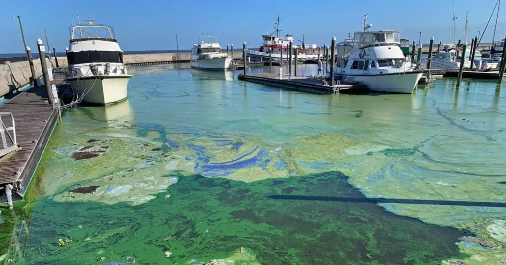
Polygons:
M353 37L353 49L361 49L370 46L399 45L399 33L397 30L379 30L355 32Z

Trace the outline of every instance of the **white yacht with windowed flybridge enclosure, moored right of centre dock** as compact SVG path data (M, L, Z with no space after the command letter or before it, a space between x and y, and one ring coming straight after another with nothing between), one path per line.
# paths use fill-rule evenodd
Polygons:
M399 33L396 30L355 32L353 50L345 59L338 59L334 78L359 82L371 91L412 93L424 71L404 57L399 47Z

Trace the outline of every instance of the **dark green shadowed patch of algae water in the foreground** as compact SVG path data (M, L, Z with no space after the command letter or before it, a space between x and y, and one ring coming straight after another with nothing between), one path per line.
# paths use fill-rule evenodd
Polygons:
M364 198L335 171L253 183L167 177L179 182L139 206L41 199L26 264L203 264L241 247L261 264L440 264L470 235L372 203L270 198ZM72 242L58 246L65 237Z

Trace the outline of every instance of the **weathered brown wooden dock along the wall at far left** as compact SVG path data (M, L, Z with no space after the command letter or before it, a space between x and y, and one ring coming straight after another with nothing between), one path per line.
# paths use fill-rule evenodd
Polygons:
M62 85L63 80L63 75L57 74L52 84ZM23 200L26 187L58 121L58 113L49 104L44 86L17 94L0 106L0 112L12 113L19 146L17 151L0 159L0 201L6 201L5 188L8 184L14 186L13 200ZM12 126L10 118L2 116L2 120L6 127Z

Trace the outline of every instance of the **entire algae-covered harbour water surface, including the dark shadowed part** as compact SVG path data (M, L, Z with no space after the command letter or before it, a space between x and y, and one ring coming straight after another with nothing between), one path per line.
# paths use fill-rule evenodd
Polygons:
M18 209L27 217L16 224L31 222L9 263L506 258L506 107L495 83L319 96L232 73L134 70L128 101L64 113ZM2 224L4 238L13 225Z

